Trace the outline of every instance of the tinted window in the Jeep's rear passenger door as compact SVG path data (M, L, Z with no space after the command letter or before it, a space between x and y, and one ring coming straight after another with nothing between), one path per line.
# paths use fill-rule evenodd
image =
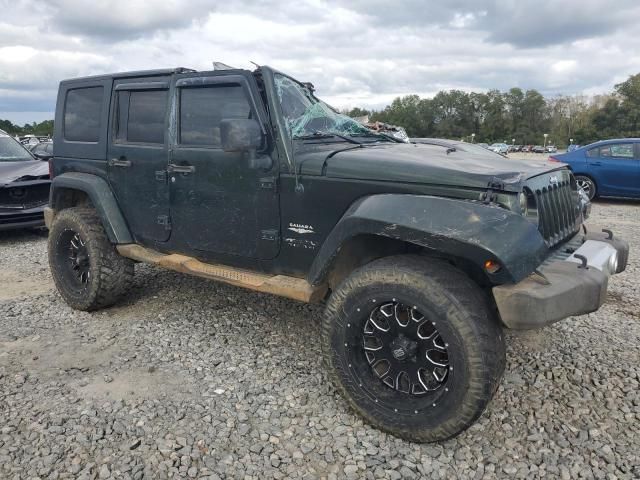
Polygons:
M164 143L167 95L167 90L129 92L127 142Z

